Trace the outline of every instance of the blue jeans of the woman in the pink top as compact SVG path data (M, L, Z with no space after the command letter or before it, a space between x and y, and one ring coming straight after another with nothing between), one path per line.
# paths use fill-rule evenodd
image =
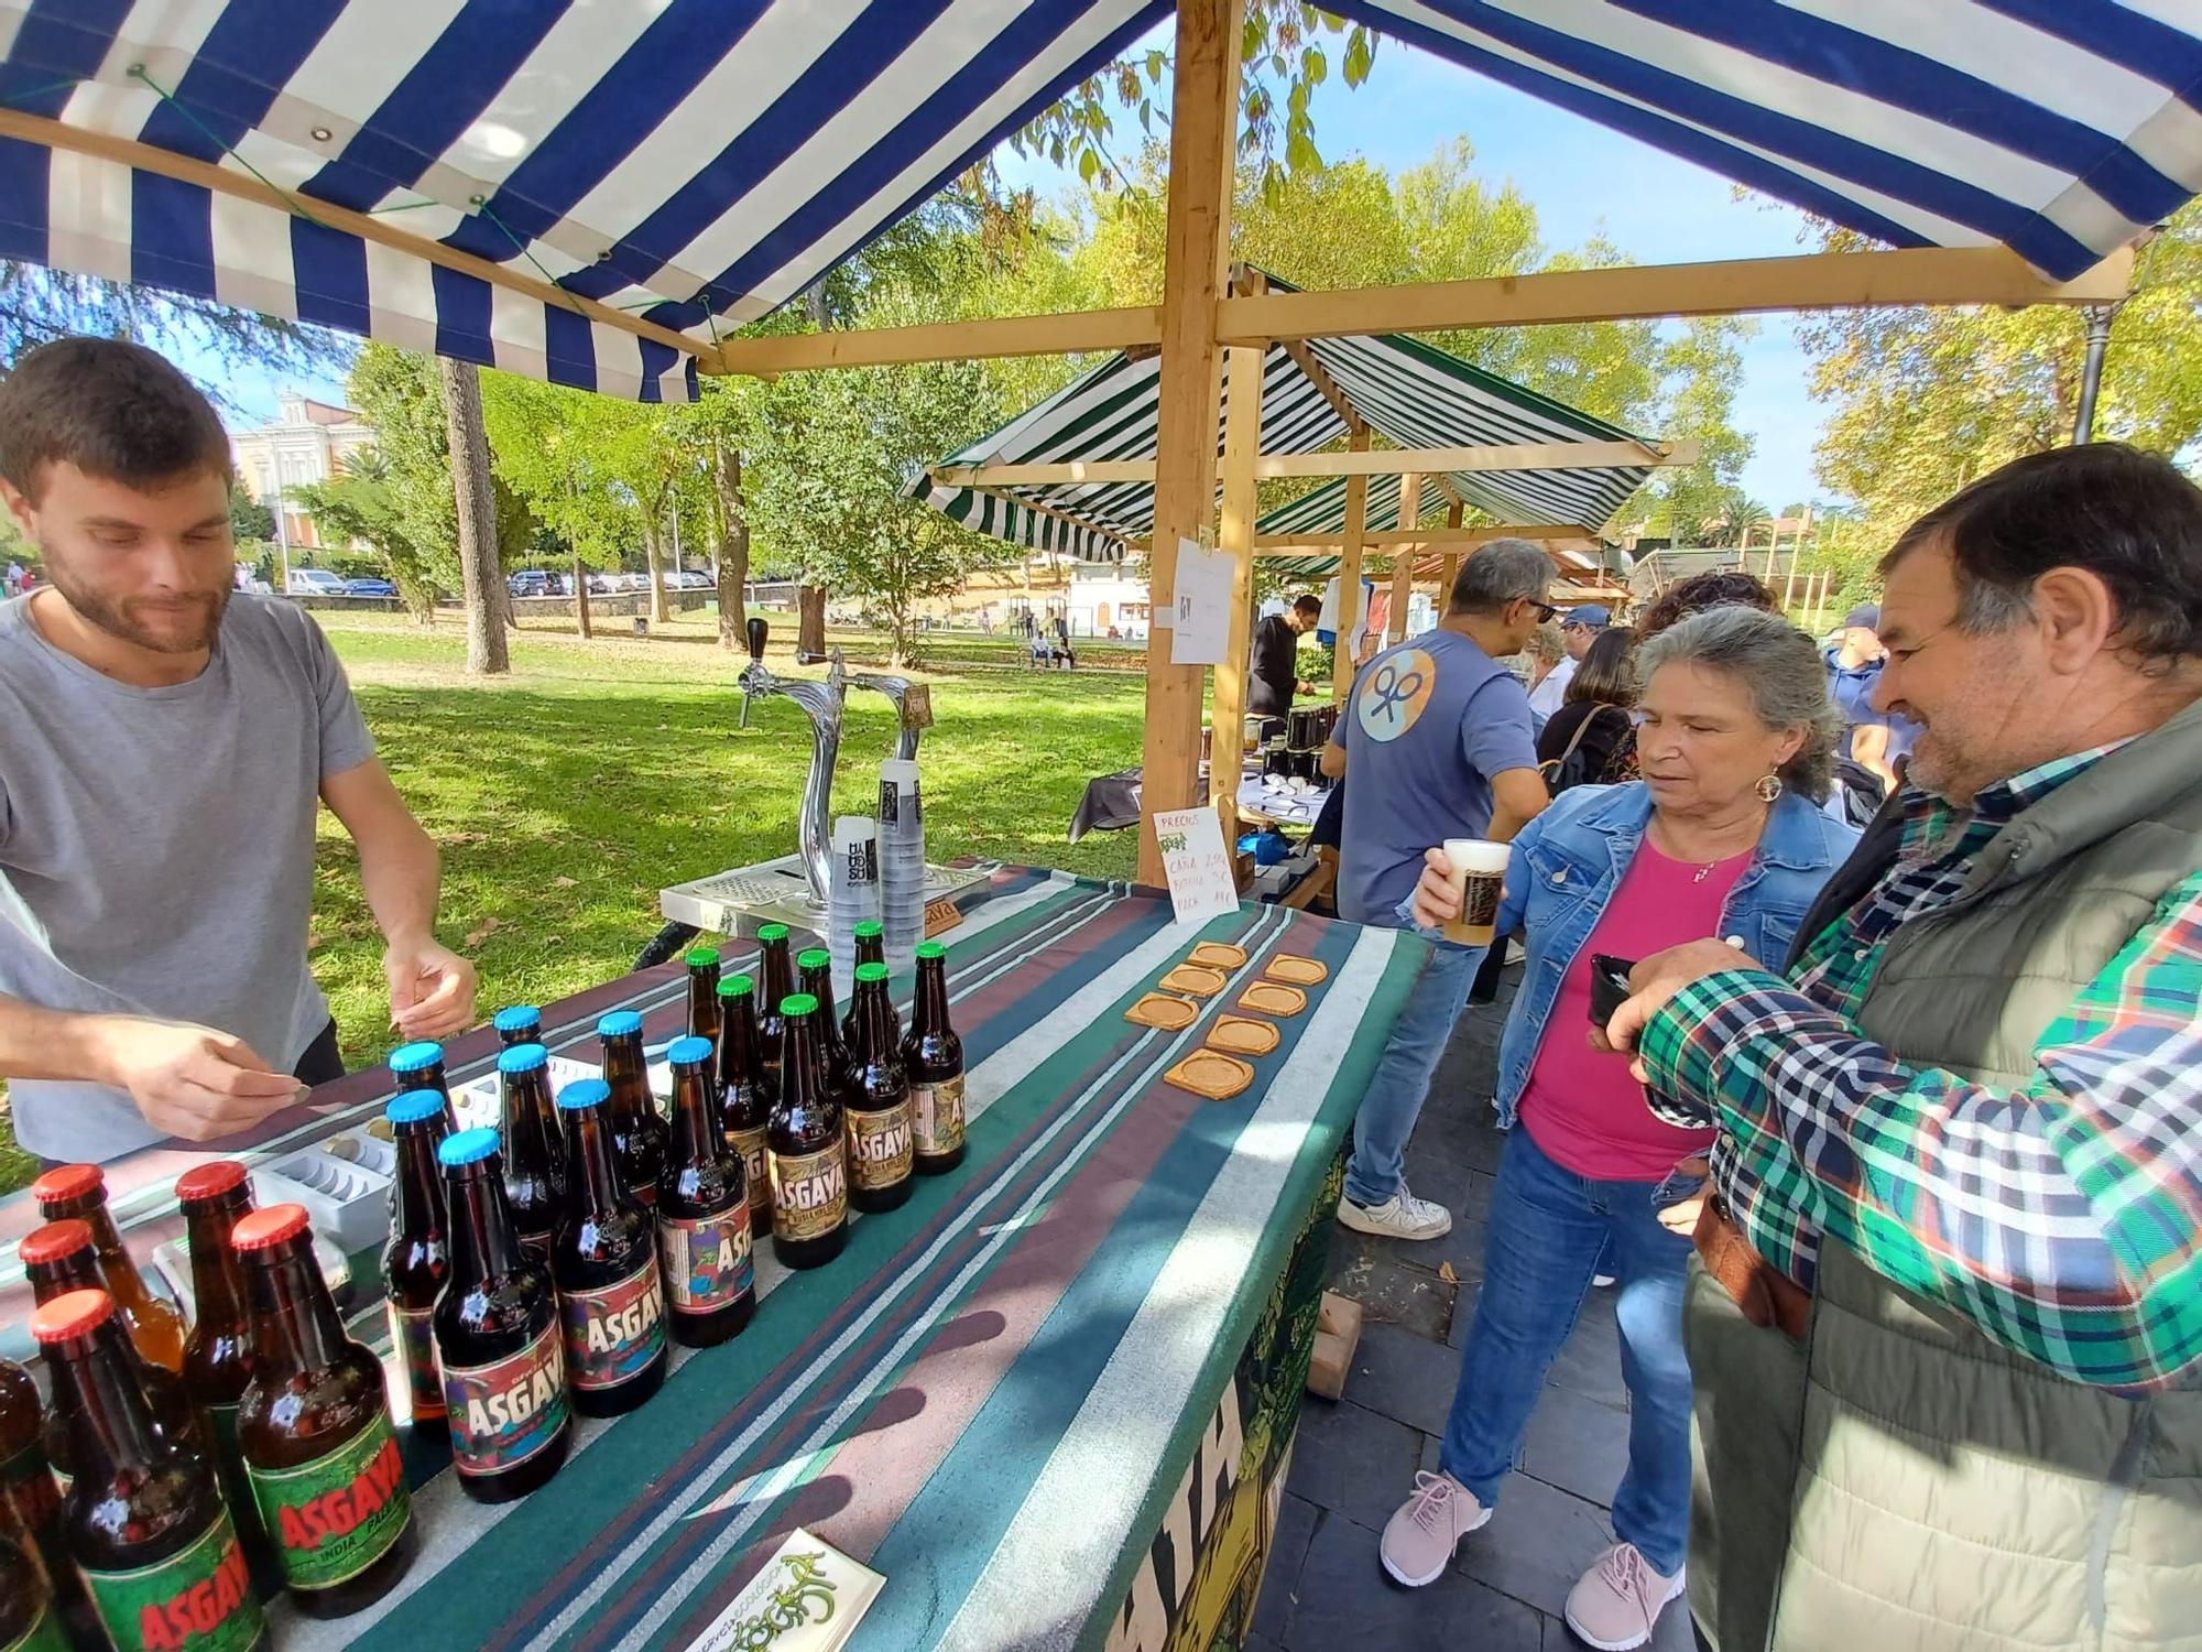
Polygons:
M1590 1181L1546 1159L1526 1128L1508 1132L1491 1194L1484 1289L1438 1454L1478 1502L1497 1504L1544 1372L1574 1330L1590 1273L1610 1247L1629 1385L1629 1467L1614 1491L1614 1537L1636 1544L1663 1577L1674 1577L1689 1546L1689 1240L1660 1227L1658 1209L1698 1185L1682 1176Z

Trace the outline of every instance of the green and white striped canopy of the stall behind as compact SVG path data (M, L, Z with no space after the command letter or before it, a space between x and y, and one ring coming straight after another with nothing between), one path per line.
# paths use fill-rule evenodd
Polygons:
M1271 278L1271 291L1295 289ZM1394 447L1643 441L1400 333L1308 339L1306 350L1370 430ZM940 467L1154 458L1158 405L1160 357L1112 355L1002 430L940 460ZM1218 412L1218 447L1224 419L1229 392ZM1260 452L1312 454L1345 434L1345 419L1323 390L1284 346L1271 346L1262 361ZM1649 465L1579 465L1453 471L1447 480L1464 504L1497 522L1579 526L1594 535L1649 474ZM1317 489L1308 500L1326 493L1330 489ZM909 485L909 496L978 533L1068 551L1088 562L1121 559L1134 540L1154 531L1152 482L1013 482L978 489L934 482L931 471L925 471ZM1337 485L1337 496L1343 500L1343 482ZM1370 480L1372 526L1378 522L1378 498L1389 500L1387 509L1396 518L1396 476ZM1295 500L1284 511L1308 500ZM1445 511L1436 478L1425 480L1425 522L1431 511Z

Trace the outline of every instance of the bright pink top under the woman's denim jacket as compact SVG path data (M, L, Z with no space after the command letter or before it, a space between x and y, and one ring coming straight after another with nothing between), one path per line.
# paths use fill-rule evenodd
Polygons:
M1751 855L1669 861L1645 839L1621 874L1596 927L1559 980L1537 1059L1522 1088L1522 1126L1544 1156L1592 1181L1663 1181L1682 1159L1713 1145L1713 1130L1676 1130L1652 1117L1643 1086L1618 1055L1590 1048L1590 954L1647 958L1720 934L1720 907Z

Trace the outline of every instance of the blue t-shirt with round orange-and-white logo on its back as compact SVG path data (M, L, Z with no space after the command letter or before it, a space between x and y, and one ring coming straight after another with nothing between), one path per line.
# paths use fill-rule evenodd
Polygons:
M1491 828L1491 775L1537 767L1528 694L1451 630L1361 667L1334 736L1345 747L1339 916L1398 925L1422 850Z

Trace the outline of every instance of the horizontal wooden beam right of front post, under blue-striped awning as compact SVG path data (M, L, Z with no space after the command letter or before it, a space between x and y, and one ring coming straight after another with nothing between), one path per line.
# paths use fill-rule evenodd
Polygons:
M1881 304L2114 304L2132 273L2132 251L2070 282L2048 282L2006 247L1907 247L1227 297L1216 306L1216 330L1240 344Z

